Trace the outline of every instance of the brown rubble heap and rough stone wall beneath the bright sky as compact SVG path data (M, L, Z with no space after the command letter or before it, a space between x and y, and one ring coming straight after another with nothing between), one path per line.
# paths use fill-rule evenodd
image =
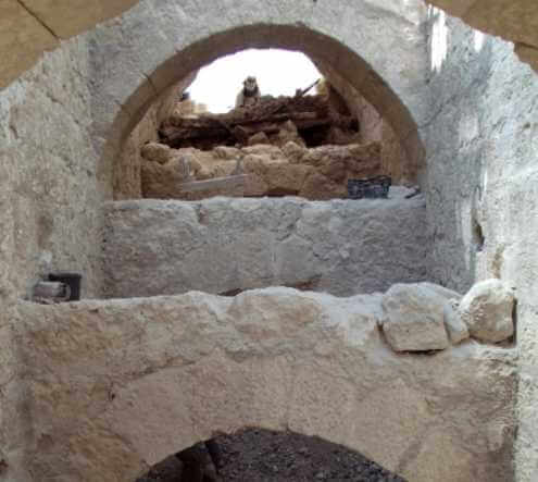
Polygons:
M380 144L360 144L355 118L301 91L225 114L177 108L141 158L142 196L158 199L345 198L348 180L386 174Z

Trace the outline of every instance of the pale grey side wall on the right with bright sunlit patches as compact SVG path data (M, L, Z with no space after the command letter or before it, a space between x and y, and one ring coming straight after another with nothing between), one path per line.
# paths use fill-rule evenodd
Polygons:
M538 478L538 77L511 45L456 20L446 26L448 49L430 74L425 127L430 276L456 289L491 276L516 287L515 467L517 480L530 482Z

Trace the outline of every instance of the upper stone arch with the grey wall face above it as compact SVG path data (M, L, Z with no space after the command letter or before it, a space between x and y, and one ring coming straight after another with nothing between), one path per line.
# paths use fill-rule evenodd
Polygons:
M95 136L105 143L104 172L166 88L220 57L274 47L316 59L360 91L393 127L410 159L412 177L421 173L420 126L428 114L422 3L413 3L409 11L390 11L362 1L350 8L350 15L338 18L334 12L341 4L336 1L315 7L303 1L289 9L275 3L255 12L243 3L234 7L242 15L234 15L221 2L211 12L200 5L179 9L173 2L159 9L137 5L121 25L97 27L89 35ZM215 17L215 12L223 14Z

